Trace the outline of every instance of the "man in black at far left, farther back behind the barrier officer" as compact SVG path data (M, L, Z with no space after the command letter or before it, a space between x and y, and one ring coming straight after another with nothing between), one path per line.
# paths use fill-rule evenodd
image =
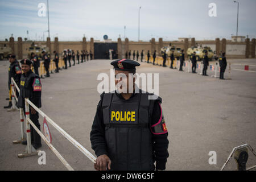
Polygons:
M9 56L9 62L10 62L10 66L9 66L9 71L8 71L8 88L9 88L9 105L8 106L3 106L3 108L7 109L10 108L12 106L11 104L11 77L14 78L14 81L16 82L16 84L19 86L19 82L20 82L20 77L22 75L22 71L20 69L19 66L19 62L15 59L15 55L10 54ZM19 93L16 92L16 96L18 97Z

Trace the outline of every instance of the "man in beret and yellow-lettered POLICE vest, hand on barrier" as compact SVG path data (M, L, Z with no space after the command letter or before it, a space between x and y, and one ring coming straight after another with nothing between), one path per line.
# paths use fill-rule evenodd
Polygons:
M168 131L160 105L162 98L154 95L155 100L149 100L148 96L153 94L139 89L135 78L132 85L129 84L127 80L140 65L137 61L122 59L111 64L115 69L115 92L101 94L90 132L97 155L94 168L164 170L169 154ZM118 78L120 75L126 78Z

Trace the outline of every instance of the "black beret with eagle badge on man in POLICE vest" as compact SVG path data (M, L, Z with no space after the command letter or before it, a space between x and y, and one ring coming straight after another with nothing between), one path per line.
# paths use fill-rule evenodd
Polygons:
M139 64L137 61L131 59L118 59L112 61L111 64L114 66L115 70L122 70L122 71L134 71L136 70L135 67L138 67Z

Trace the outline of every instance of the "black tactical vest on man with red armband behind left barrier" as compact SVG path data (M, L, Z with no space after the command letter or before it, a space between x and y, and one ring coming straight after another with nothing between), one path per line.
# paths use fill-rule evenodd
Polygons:
M22 75L22 77L20 78L20 86L19 86L20 93L18 98L18 107L24 106L24 98L31 99L32 92L33 92L31 82L34 78L40 78L40 77L36 75L34 72L31 72L27 77Z

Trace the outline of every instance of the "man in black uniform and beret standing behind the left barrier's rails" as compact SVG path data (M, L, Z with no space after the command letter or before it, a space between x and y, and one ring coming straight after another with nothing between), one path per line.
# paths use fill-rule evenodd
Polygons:
M41 107L41 92L42 84L40 77L36 75L31 70L32 62L30 60L24 59L20 61L22 64L23 74L20 78L20 94L18 98L18 107L22 107L25 115L25 100L28 98L36 107ZM38 121L39 114L38 112L30 106L30 119L35 124L35 126L40 130L40 123ZM31 134L31 143L35 149L38 149L42 146L40 135L30 127ZM27 144L27 141L23 141L22 144Z

